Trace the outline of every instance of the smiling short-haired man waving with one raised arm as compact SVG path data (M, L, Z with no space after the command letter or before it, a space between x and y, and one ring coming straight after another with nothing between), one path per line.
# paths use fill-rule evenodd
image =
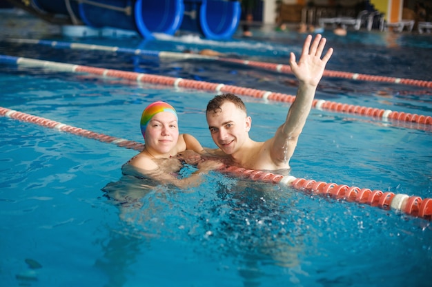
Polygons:
M326 39L320 34L308 35L304 41L299 62L295 54L290 54L290 66L297 77L299 89L293 105L288 110L285 123L273 138L265 142L255 142L249 138L252 119L246 114L246 107L240 98L233 94L215 96L207 105L206 117L213 141L219 147L217 155L226 156L233 164L246 169L289 169L297 140L302 133L318 83L322 78L326 63L333 49L321 59Z

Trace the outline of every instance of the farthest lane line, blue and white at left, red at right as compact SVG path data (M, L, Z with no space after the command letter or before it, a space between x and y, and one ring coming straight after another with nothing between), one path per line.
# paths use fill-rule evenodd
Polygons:
M7 39L6 41L12 43L47 45L51 47L60 47L63 49L66 48L66 49L78 49L78 50L97 50L97 51L106 51L106 52L123 52L128 54L135 54L135 55L155 56L159 58L217 60L217 61L224 61L229 63L237 63L242 65L259 67L266 70L274 70L286 74L292 74L291 67L289 65L266 63L260 61L248 61L242 59L231 59L231 58L224 58L221 56L204 56L199 54L188 54L188 53L181 53L181 52L141 50L141 49L133 49L133 48L125 48L125 47L117 47L117 46L91 45L91 44L37 40L37 39ZM394 84L403 84L403 85L415 85L419 87L432 87L432 81L414 80L410 78L395 78L389 76L375 76L375 75L359 74L353 72L324 70L323 76L328 76L331 78L348 78L356 81L385 82L385 83L394 83Z

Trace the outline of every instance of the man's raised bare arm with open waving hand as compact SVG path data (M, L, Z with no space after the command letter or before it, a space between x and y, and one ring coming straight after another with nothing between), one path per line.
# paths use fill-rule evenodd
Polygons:
M320 34L315 36L312 45L311 42L312 36L308 35L298 63L295 61L295 54L293 52L290 54L291 71L300 84L293 105L288 110L285 123L277 129L275 138L273 138L271 158L276 164L287 162L293 156L298 137L311 111L317 85L333 54L333 48L330 48L321 59L326 39Z

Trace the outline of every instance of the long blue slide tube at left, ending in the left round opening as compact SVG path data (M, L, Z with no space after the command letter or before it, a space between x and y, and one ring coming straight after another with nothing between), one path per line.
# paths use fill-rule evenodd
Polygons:
M146 39L152 33L173 35L183 20L183 0L32 0L39 10L66 14L91 28L134 30Z

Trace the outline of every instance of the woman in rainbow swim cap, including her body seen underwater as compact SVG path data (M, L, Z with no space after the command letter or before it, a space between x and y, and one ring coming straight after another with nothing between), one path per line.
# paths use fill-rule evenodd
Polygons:
M120 217L127 221L133 220L128 218L130 211L140 209L142 199L150 191L158 190L161 183L179 188L197 186L202 181L202 173L222 167L221 162L199 154L204 149L196 138L179 134L177 112L168 103L158 101L144 109L141 132L144 149L121 168L121 180L110 182L102 189L106 197L119 204ZM188 166L194 172L183 178L184 172L180 176L177 173L186 167L185 163L196 165L198 170Z

